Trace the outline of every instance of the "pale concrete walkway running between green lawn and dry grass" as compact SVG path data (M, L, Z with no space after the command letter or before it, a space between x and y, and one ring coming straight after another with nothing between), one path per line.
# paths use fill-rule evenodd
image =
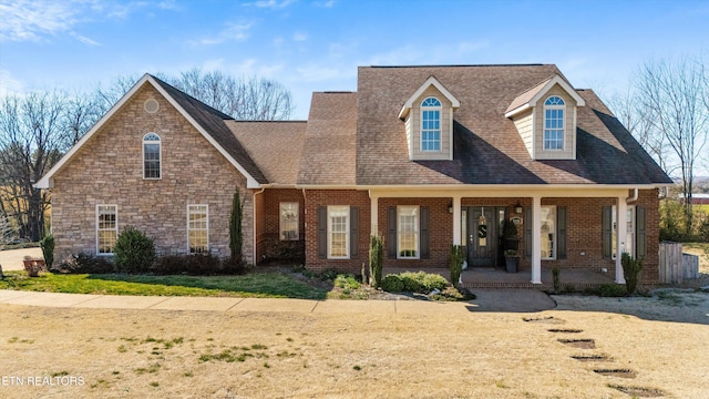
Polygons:
M480 289L477 299L464 303L428 300L309 300L275 298L160 297L130 295L84 295L0 290L0 304L92 308L205 311L295 311L304 314L451 314L471 311L534 313L556 307L546 294L533 289Z

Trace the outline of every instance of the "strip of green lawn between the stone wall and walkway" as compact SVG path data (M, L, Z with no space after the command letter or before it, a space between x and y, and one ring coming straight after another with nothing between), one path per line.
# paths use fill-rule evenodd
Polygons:
M245 276L70 275L7 272L0 289L97 295L218 296L323 299L328 290L271 272Z

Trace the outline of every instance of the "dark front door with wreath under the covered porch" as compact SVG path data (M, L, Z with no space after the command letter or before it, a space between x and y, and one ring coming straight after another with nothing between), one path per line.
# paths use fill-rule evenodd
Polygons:
M463 206L461 228L467 247L467 265L494 267L500 264L500 233L505 207Z

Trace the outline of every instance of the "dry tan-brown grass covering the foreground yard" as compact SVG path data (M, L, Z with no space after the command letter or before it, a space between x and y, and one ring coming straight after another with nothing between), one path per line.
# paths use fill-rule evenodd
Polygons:
M667 314L678 306L657 303ZM574 310L454 316L0 305L0 377L85 381L0 385L0 397L629 398L618 386L701 398L709 392L709 326L700 316L709 307L693 311L697 323ZM596 348L558 339L593 339ZM204 355L213 356L202 361Z

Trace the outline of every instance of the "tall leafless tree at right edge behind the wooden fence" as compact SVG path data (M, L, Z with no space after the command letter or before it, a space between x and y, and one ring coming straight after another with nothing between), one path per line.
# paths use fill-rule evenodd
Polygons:
M640 117L669 145L681 173L687 234L692 226L695 166L709 130L706 82L701 59L689 58L646 62L635 82Z

